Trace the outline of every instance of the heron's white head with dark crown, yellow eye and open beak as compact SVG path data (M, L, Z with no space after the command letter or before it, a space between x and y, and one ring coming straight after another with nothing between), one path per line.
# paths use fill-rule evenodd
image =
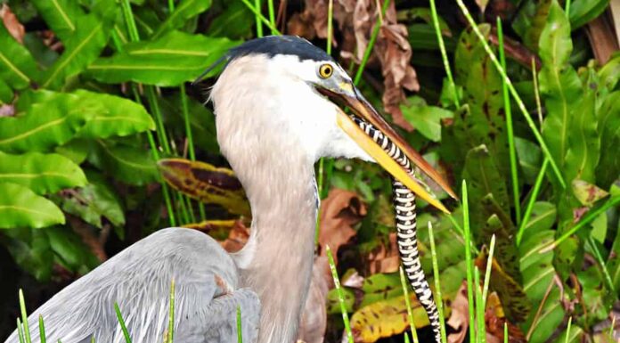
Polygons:
M321 157L365 159L379 163L420 198L447 212L379 146L376 135L358 125L363 122L387 137L454 196L449 184L387 124L327 53L303 38L263 37L233 48L224 61L210 98L218 142L234 169L251 169L264 158L295 151L311 163Z

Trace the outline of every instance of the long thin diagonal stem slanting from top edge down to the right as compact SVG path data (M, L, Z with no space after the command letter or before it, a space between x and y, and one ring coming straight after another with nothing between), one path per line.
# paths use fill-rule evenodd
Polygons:
M459 7L461 7L461 12L463 12L463 15L465 16L465 18L467 18L467 20L469 21L469 25L471 26L471 29L474 30L474 32L476 33L476 36L478 37L478 39L480 39L480 42L485 48L485 52L487 53L491 61L493 61L495 69L497 69L497 71L500 73L500 75L504 79L504 82L506 83L506 85L508 86L510 90L510 94L512 94L512 97L515 99L515 102L517 102L518 104L519 110L521 110L521 113L526 118L527 125L530 127L530 129L532 130L532 133L536 137L536 141L541 145L542 152L544 152L545 157L550 160L551 169L553 170L553 173L555 174L555 176L558 178L559 184L562 186L562 188L566 188L567 184L564 181L564 177L562 176L562 173L559 170L558 165L555 163L555 161L553 160L553 157L551 156L551 151L549 151L549 147L547 146L547 143L545 143L544 139L542 139L542 135L538 131L538 128L536 127L536 125L534 124L534 120L532 119L532 116L530 116L529 112L527 111L525 103L523 102L523 100L521 100L521 96L517 93L517 89L515 88L515 86L512 85L510 78L508 78L508 75L506 74L506 70L502 68L500 61L497 60L497 57L493 53L491 46L488 44L488 42L486 42L485 37L482 35L482 32L480 32L480 29L477 27L476 21L471 17L471 14L469 13L467 6L463 4L463 0L456 0L456 2L457 4L459 4Z

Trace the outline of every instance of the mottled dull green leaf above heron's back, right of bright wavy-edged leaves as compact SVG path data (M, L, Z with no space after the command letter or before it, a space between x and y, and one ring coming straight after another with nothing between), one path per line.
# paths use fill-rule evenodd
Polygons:
M56 203L72 215L90 225L102 228L102 217L114 226L125 225L125 215L114 190L105 179L94 172L88 173L88 184L56 197Z

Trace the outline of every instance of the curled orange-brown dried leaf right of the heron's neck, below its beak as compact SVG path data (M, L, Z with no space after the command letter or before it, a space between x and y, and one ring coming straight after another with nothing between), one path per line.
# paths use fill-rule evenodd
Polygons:
M355 192L331 190L327 199L322 200L319 216L321 256L327 256L325 246L329 245L334 262L338 263L338 249L355 236L352 226L359 223L363 216L366 216L366 206Z

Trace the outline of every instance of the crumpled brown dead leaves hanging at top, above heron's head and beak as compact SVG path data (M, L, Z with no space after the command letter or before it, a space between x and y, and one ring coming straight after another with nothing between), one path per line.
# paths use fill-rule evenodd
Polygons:
M379 7L378 7L379 4ZM296 13L289 21L290 34L302 37L327 37L328 0L306 0L304 12ZM380 2L376 0L334 0L335 26L339 29L341 56L359 62L371 38L372 29L379 19ZM385 91L382 96L387 113L396 125L411 131L413 127L404 119L400 104L404 91L418 91L420 84L415 69L410 64L412 48L408 32L396 20L396 7L391 2L382 18L379 36L372 49L370 66L379 65ZM338 42L334 39L334 45Z

